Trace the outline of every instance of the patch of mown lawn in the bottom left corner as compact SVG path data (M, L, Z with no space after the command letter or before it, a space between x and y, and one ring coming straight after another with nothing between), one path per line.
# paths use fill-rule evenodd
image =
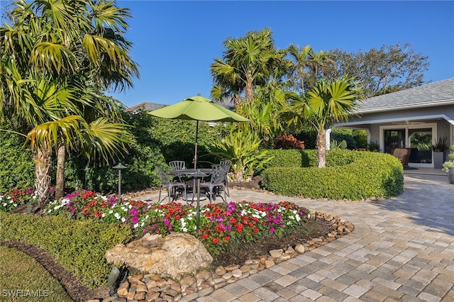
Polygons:
M72 301L48 271L19 250L0 246L0 274L0 301Z

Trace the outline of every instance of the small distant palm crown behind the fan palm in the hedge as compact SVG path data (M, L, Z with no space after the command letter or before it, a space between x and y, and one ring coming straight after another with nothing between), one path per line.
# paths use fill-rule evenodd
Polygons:
M309 77L309 74L319 77L320 72L324 73L326 67L336 65L336 62L328 57L327 52L323 52L323 50L315 52L310 45L299 48L297 45L291 44L287 47L287 52L294 60L290 74L297 77L297 82L301 82L303 94L306 91L305 85L307 86L305 79Z

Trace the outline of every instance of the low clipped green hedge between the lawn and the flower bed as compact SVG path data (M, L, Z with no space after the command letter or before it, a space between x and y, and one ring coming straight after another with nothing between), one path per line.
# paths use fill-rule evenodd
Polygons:
M111 271L106 251L131 239L131 228L66 216L30 216L1 213L0 238L37 245L55 258L85 286L106 284Z

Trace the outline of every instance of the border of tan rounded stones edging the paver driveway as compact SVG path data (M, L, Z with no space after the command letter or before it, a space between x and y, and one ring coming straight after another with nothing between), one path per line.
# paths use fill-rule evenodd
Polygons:
M331 223L331 232L326 236L312 238L304 245L297 244L287 250L272 250L268 255L256 259L248 259L243 265L217 267L214 271L201 270L194 276L184 276L179 282L163 279L160 275L145 274L129 276L116 291L117 296L94 298L87 302L126 302L126 301L194 301L207 296L216 289L231 284L239 279L256 274L275 264L297 257L306 251L325 245L343 235L351 233L354 225L347 220L326 213L312 212L316 219L324 219Z

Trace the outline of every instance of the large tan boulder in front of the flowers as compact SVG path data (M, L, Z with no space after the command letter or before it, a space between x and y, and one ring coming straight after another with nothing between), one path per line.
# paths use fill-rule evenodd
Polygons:
M178 278L209 267L213 257L196 237L172 233L166 237L146 234L127 245L116 245L106 252L109 263L126 264L148 274Z

